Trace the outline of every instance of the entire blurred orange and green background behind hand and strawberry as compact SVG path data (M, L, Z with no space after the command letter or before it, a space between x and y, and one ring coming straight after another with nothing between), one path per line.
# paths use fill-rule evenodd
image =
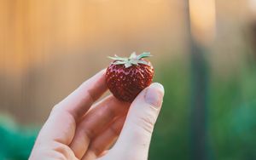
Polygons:
M0 0L0 159L108 55L151 52L166 96L149 159L256 159L256 0Z

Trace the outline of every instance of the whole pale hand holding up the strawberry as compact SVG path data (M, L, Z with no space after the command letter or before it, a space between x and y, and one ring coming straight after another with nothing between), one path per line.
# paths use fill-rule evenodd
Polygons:
M100 71L57 104L29 159L146 160L164 95L162 85L151 84L131 104L113 95L94 104L105 91L105 71Z

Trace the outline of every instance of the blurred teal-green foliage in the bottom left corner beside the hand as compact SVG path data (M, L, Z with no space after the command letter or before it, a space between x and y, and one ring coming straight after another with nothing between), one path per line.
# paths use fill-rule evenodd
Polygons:
M20 128L10 117L0 117L0 159L26 160L38 134L35 128Z

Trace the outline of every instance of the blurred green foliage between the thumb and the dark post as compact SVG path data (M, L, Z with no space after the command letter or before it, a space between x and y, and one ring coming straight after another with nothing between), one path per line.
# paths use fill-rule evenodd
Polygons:
M166 93L149 159L189 159L189 62L179 58L162 64L154 66L154 81L162 83Z

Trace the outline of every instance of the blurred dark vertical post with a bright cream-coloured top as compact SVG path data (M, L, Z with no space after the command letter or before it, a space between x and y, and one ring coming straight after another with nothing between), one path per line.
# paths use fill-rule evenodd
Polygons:
M185 0L191 59L191 159L210 159L207 135L206 54L215 35L215 0Z

